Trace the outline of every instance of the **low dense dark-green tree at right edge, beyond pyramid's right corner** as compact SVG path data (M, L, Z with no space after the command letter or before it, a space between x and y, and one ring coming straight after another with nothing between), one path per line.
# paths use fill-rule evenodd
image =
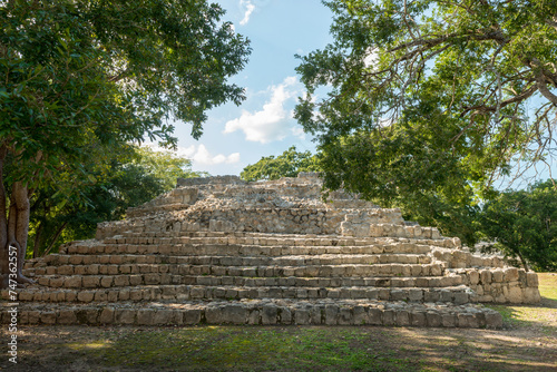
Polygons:
M485 204L481 231L507 257L525 270L557 270L557 192L551 180L527 190L505 192Z

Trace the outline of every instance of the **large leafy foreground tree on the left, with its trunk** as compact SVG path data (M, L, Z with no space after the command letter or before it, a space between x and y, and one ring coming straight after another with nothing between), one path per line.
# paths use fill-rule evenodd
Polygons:
M0 272L29 229L29 198L46 184L62 195L88 178L99 150L160 138L173 145L173 116L198 138L206 110L240 104L227 84L248 41L199 0L9 0L0 4ZM11 164L7 173L4 165ZM66 176L62 177L61 175ZM12 282L13 283L13 282Z

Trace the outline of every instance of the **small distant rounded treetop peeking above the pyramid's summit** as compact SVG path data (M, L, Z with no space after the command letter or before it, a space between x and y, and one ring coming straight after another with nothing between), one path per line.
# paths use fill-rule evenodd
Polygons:
M310 151L296 151L292 146L282 155L264 156L255 164L248 165L241 174L245 180L278 179L281 177L296 177L300 172L319 172L315 155Z

